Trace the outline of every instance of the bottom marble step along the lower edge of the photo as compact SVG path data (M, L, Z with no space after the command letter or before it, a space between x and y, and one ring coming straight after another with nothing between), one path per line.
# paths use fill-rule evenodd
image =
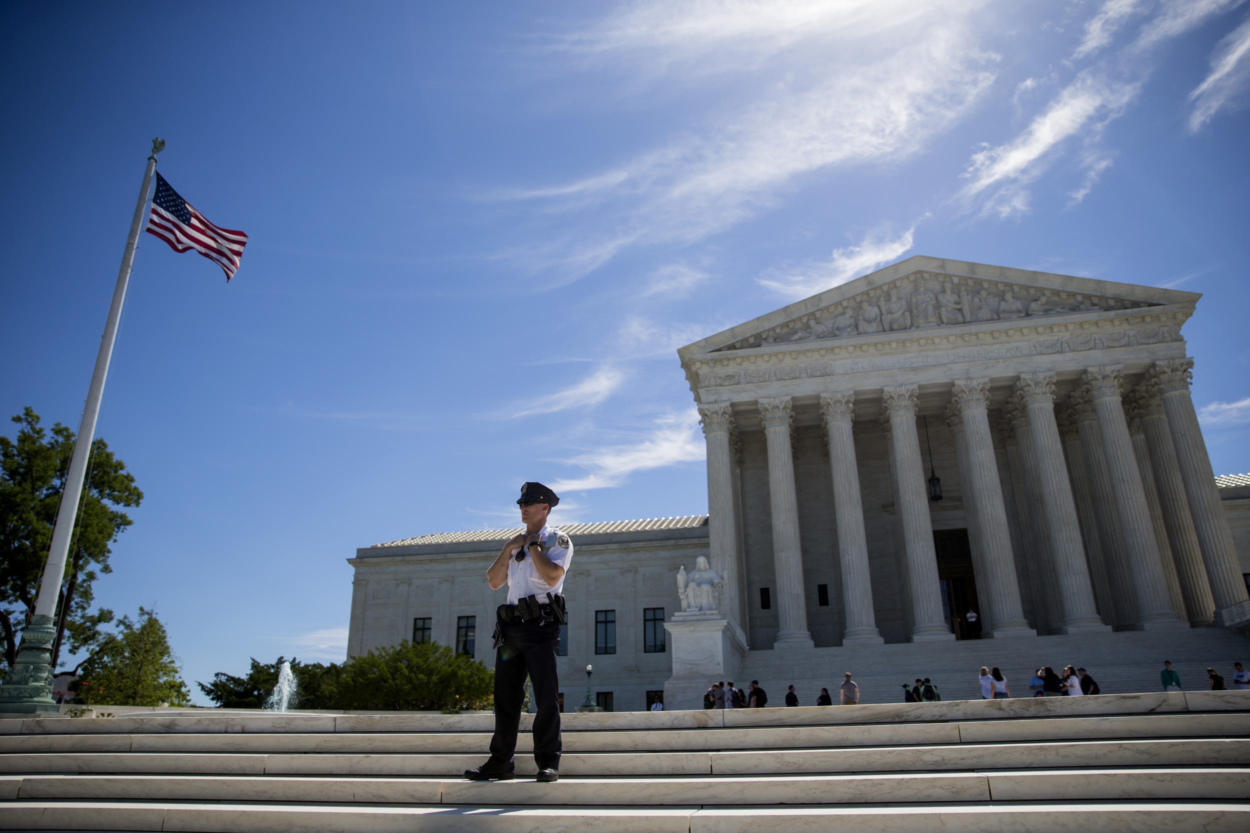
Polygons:
M0 829L235 833L1176 833L1235 831L1250 823L1250 803L1228 801L712 808L19 801L4 811Z

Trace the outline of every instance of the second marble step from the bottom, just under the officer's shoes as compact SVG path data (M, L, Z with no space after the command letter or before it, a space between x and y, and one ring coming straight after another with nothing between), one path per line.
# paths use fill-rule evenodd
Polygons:
M576 778L292 778L0 776L5 801L261 801L369 804L842 804L986 801L1250 799L1250 768L1041 769L966 773ZM0 806L2 811L4 806Z

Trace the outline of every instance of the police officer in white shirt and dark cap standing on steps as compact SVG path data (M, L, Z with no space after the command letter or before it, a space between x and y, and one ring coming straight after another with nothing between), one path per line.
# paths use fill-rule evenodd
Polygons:
M534 761L539 781L560 778L560 704L555 654L560 626L566 619L565 572L572 561L569 536L548 526L548 515L560 502L542 483L525 483L516 503L521 507L520 532L500 550L486 571L491 589L508 582L508 603L500 604L495 622L495 736L490 759L466 769L470 781L506 781L516 777L512 761L521 722L525 677L534 683Z

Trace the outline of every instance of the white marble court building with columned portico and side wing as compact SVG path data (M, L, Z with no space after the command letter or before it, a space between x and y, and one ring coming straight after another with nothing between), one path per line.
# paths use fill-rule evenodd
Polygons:
M1215 477L1190 397L1200 297L916 256L682 347L708 515L552 513L576 547L564 707L698 708L729 679L811 704L842 671L866 702L915 676L974 696L981 664L1028 696L1069 662L1152 691L1164 653L1186 687L1229 677L1250 477ZM358 550L349 657L415 639L492 664L484 574L515 531ZM682 612L699 556L718 609Z

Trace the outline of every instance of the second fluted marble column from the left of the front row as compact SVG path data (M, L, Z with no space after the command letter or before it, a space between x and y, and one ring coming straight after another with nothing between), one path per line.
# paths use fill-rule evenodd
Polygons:
M794 453L789 396L759 401L769 448L769 502L772 508L772 563L778 579L778 636L772 647L812 647L804 599L802 548L799 545L799 498L794 486Z

